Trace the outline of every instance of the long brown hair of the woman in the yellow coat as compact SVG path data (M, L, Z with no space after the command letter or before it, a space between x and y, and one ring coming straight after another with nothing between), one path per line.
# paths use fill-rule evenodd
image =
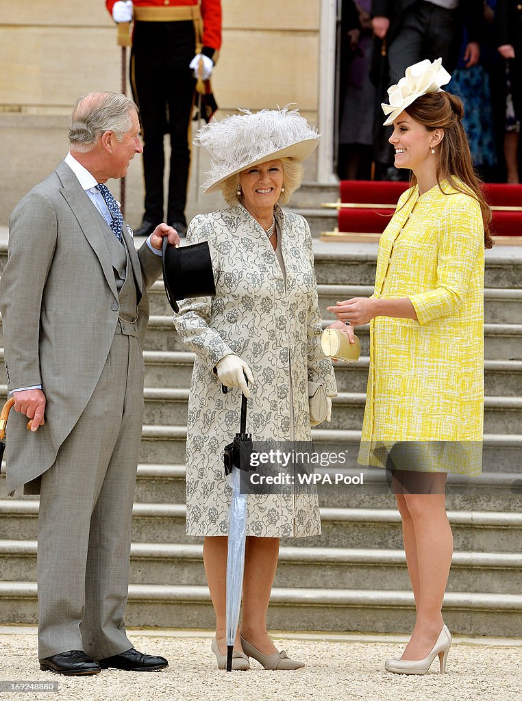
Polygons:
M493 238L490 236L489 225L491 222L491 210L481 191L481 180L476 175L471 161L469 143L467 140L462 117L464 105L457 95L441 91L440 93L427 93L417 97L406 108L406 112L415 121L424 125L428 131L443 129L444 138L439 144L439 163L436 168L436 179L439 189L444 192L441 182L447 180L455 190L469 195L481 205L482 219L484 222L484 247L493 247ZM457 182L458 178L460 182ZM417 184L417 179L412 173L410 180L412 186ZM462 184L464 184L464 187ZM450 193L444 193L450 194Z

